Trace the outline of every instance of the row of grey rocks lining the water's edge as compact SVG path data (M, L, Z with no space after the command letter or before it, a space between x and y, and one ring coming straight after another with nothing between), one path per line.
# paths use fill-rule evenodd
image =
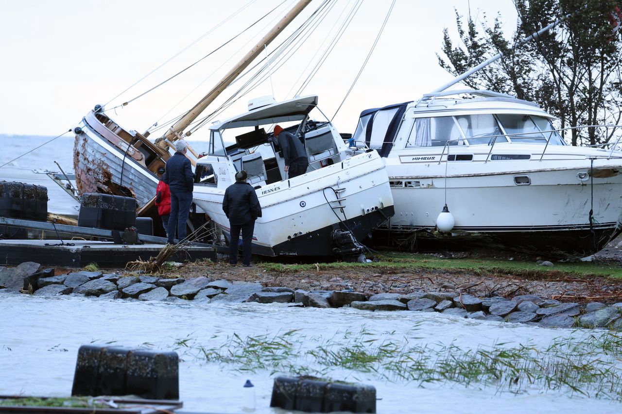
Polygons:
M369 293L304 290L266 286L256 281L205 276L167 278L154 275L104 274L85 270L55 275L34 262L0 268L0 288L38 297L81 295L97 299L167 301L172 303L258 302L287 306L360 310L438 312L455 318L537 324L545 328L609 328L622 330L622 302L562 303L539 295L477 297L469 293L422 291Z

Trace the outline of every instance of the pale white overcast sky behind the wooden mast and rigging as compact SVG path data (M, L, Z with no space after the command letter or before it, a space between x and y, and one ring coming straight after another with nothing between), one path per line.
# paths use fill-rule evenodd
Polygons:
M249 99L272 91L277 101L293 98L355 1L336 0L298 50L271 66L272 82L264 81L214 120L243 113ZM162 125L192 108L294 2L0 0L0 134L57 136L77 126L95 104L106 104L108 115L126 129L144 132L155 122ZM313 0L267 52L273 52L321 2ZM420 98L452 79L439 67L435 53L440 53L443 29L457 39L454 7L462 15L470 11L479 24L491 24L501 14L508 37L516 22L511 0L396 0L369 62L337 112L389 6L391 0L363 0L337 45L300 92L318 94L323 113L328 117L337 113L333 122L340 132L354 132L363 109ZM182 75L128 106L112 109L204 57L274 7L266 19ZM216 106L234 90L236 85L225 90ZM207 139L207 128L192 138Z

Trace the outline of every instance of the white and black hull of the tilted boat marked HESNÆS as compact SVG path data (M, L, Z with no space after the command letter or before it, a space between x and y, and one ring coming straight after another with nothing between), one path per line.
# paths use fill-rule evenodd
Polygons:
M228 233L229 221L222 210L224 192L223 188L195 185L193 196ZM253 253L262 255L335 255L337 246L331 237L335 229L349 229L363 241L393 214L389 180L375 151L262 186L256 192L262 217L255 223Z

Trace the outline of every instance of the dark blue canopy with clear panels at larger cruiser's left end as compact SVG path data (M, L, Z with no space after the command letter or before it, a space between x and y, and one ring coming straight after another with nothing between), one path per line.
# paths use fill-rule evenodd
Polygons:
M377 150L381 157L387 157L393 147L393 137L399 123L411 102L365 109L359 116L353 140L364 142L367 147Z

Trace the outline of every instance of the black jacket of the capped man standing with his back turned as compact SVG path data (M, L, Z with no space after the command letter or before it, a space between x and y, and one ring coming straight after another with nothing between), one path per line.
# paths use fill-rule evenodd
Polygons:
M255 221L261 217L261 206L253 186L244 182L236 182L225 190L223 211L229 223L241 225Z

